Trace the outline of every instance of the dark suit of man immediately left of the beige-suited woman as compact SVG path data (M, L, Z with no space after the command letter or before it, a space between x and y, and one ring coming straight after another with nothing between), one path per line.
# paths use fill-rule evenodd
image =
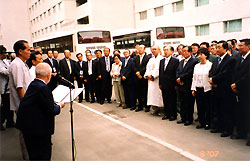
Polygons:
M100 73L102 76L102 92L101 92L101 102L104 102L105 98L108 101L111 101L112 96L112 79L110 76L110 71L114 60L112 57L109 57L109 71L106 70L105 56L100 58Z

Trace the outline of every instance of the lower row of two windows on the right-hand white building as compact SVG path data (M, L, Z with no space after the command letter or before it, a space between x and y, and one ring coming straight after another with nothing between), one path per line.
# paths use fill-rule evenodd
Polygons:
M241 32L242 19L224 21L224 33ZM209 24L195 26L196 36L209 35Z

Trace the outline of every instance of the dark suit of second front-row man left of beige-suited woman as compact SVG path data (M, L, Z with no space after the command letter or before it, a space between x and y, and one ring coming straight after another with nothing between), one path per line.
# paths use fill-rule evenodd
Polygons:
M92 74L90 75L88 70L89 70L89 65L88 65L89 61L84 62L83 64L83 77L84 80L87 80L87 83L85 83L85 99L86 101L89 100L89 93L91 96L91 101L94 102L95 101L95 96L94 96L94 91L95 91L95 77L94 77L94 73L97 73L99 71L97 66L97 62L92 60Z

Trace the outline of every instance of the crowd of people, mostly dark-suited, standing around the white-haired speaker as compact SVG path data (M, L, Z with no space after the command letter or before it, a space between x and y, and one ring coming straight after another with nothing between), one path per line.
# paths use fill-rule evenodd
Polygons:
M164 46L163 52L157 45L150 49L146 53L145 46L138 44L135 51L125 49L122 55L119 50L110 54L109 48L103 53L95 50L95 55L86 50L87 61L82 53L76 55L78 61L71 59L69 50L59 60L58 52L49 50L43 60L40 47L30 54L28 43L21 40L14 45L16 58L7 60L6 49L0 46L1 130L5 121L6 127L16 126L13 111L19 111L29 84L37 79L36 67L44 62L51 68L46 82L50 92L63 84L59 77L64 77L72 83L76 80L79 88L84 86L86 102L102 105L112 103L114 87L117 107L152 111L169 121L176 120L179 112L177 124L184 126L193 124L196 101L197 129L247 139L250 146L250 39L180 44L176 52L172 46ZM78 101L83 100L81 93ZM27 141L27 133L20 138Z

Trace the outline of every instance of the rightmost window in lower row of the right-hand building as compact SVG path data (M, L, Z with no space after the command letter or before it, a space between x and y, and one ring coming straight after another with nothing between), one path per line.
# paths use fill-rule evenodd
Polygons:
M241 32L242 31L242 19L231 20L224 22L224 32Z

